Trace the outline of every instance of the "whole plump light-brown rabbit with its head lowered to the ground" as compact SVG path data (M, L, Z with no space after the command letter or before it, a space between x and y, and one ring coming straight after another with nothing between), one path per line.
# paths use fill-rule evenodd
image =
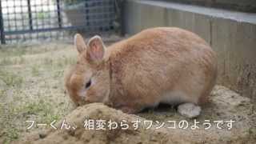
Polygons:
M78 62L66 75L70 98L82 105L103 102L126 113L159 103L178 105L193 118L217 76L216 54L198 35L158 27L106 48L102 38L74 37Z

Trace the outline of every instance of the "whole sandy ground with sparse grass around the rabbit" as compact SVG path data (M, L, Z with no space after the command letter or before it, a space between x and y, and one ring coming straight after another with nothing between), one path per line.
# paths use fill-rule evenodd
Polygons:
M76 55L74 46L62 42L0 49L0 143L256 143L255 103L223 86L214 87L210 103L196 119L182 117L171 106L137 115L99 103L76 109L63 84L64 72L76 62ZM89 119L118 122L118 128L86 130ZM61 130L63 120L75 129ZM137 120L141 122L134 130ZM234 122L228 130L230 120ZM27 130L30 122L26 121L35 125ZM127 130L119 126L124 121ZM145 123L149 121L153 122L150 128ZM174 126L170 121L176 122L176 128L170 128ZM184 121L188 128L179 128ZM198 128L193 130L195 121ZM217 121L223 122L221 129ZM205 130L209 123L210 129Z

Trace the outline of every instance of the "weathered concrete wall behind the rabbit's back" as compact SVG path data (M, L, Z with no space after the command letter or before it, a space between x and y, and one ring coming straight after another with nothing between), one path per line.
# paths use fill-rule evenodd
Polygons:
M154 26L193 31L218 53L218 83L256 101L256 14L155 1L125 6L127 34Z

